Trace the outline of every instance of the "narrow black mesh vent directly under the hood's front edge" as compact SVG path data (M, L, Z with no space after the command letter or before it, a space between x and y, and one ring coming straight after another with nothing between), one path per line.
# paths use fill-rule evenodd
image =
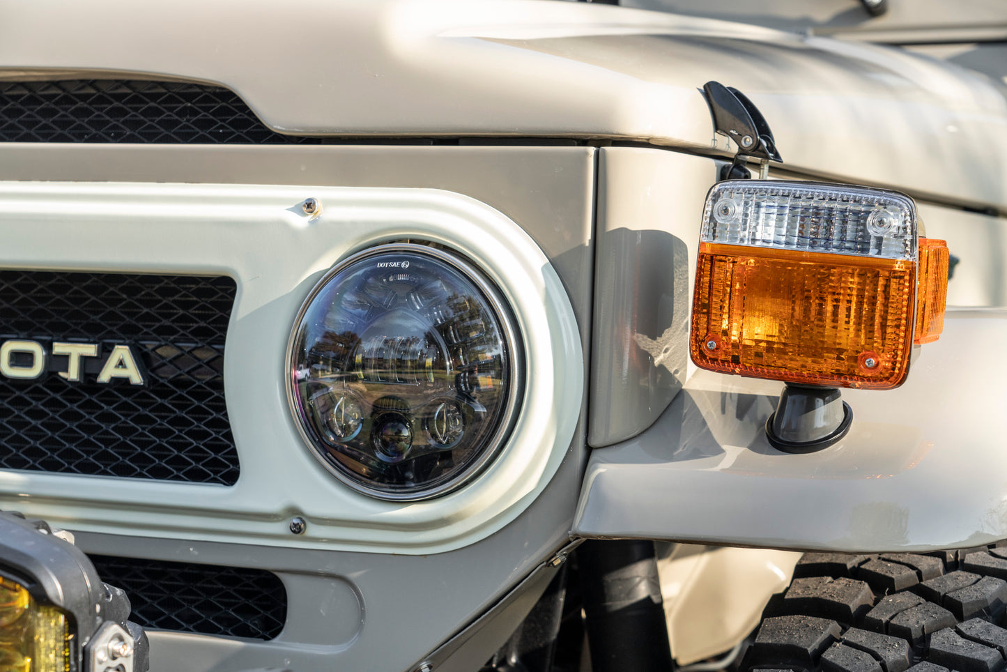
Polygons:
M233 92L182 82L0 83L0 142L319 144L270 130Z

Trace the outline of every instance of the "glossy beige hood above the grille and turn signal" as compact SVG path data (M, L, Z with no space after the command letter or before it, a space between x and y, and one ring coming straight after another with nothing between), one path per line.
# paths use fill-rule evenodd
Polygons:
M699 91L762 110L786 165L1007 211L1007 102L883 47L543 0L0 0L0 77L218 83L268 125L337 136L715 139ZM2 122L2 120L0 120Z

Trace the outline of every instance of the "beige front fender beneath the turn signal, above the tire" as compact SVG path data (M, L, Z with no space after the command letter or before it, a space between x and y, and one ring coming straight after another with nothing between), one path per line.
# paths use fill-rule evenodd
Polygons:
M844 390L849 434L771 447L780 384L699 372L657 423L591 455L574 534L823 551L925 551L1007 537L1007 310L951 309L897 390Z

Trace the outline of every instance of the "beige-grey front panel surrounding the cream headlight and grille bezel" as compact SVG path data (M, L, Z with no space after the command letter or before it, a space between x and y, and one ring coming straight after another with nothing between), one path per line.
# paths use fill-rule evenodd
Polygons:
M465 193L518 223L543 250L568 293L581 349L588 349L591 148L5 145L0 156L4 179L389 186ZM169 233L148 231L151 240ZM281 252L268 250L262 262L286 263ZM586 390L578 403L585 402ZM293 536L282 532L271 544L241 544L171 539L153 529L139 537L78 530L78 543L88 552L270 569L284 580L287 627L276 640L152 633L159 672L371 669L379 651L388 669L409 669L567 542L586 459L583 425L581 420L540 497L487 539L454 551L361 553L334 550L336 542L312 550L292 548ZM277 445L263 442L261 447L275 451ZM74 488L68 485L66 491ZM145 526L131 511L120 516L129 525ZM279 521L269 525L278 527ZM200 529L201 522L195 532ZM498 641L489 642L486 655L508 635L501 632Z

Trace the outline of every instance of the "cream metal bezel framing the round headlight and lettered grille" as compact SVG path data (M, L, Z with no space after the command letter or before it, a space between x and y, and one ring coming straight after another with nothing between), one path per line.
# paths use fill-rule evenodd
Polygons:
M304 215L308 196L320 215ZM501 529L567 455L584 364L566 290L517 224L473 198L410 188L0 182L0 235L4 268L234 277L225 381L242 466L233 487L7 471L0 508L79 532L428 554ZM494 281L534 375L510 439L479 477L435 500L396 504L351 491L313 457L290 415L283 362L318 277L349 254L404 239L450 247ZM307 521L296 537L294 516Z

